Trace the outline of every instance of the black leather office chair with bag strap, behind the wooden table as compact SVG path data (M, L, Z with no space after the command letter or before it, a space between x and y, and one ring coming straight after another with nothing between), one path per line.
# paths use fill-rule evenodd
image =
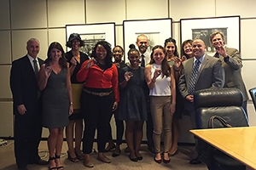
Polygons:
M223 117L232 127L248 127L247 116L241 107L242 100L243 94L237 88L208 88L196 91L194 95L196 127L208 128L212 116ZM223 127L223 125L216 121L214 127ZM201 139L199 139L199 149L199 153L206 157L207 167L210 170L246 169L239 161L214 149Z

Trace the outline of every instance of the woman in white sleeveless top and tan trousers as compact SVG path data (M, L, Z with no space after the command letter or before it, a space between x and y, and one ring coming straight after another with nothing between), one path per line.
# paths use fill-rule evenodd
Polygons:
M160 163L160 136L164 131L163 161L170 162L168 151L172 140L172 115L176 105L174 72L166 60L166 49L160 45L152 48L151 60L145 67L145 78L150 89L150 109L153 119L154 161Z

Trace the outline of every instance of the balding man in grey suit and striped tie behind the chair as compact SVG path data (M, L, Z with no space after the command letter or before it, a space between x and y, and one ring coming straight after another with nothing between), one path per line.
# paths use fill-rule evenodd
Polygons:
M201 39L193 41L194 57L183 62L183 71L178 82L180 93L185 98L185 111L189 112L193 128L196 128L193 98L195 91L205 88L224 87L224 70L221 66L221 61L205 54L206 48ZM197 140L195 140L195 147L197 149ZM201 161L196 156L189 163L198 164Z

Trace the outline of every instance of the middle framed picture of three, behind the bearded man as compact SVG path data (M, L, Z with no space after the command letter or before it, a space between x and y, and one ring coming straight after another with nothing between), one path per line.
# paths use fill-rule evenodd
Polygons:
M129 62L127 59L127 52L129 45L133 43L136 45L137 36L144 34L148 37L149 47L148 52L155 45L164 45L166 38L172 37L172 19L156 19L156 20L124 20L124 49L125 49L125 63Z

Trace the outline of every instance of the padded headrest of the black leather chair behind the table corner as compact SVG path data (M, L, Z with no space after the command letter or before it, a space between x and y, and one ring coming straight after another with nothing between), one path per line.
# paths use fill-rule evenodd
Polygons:
M195 109L199 107L241 106L243 94L237 88L207 88L194 94Z

